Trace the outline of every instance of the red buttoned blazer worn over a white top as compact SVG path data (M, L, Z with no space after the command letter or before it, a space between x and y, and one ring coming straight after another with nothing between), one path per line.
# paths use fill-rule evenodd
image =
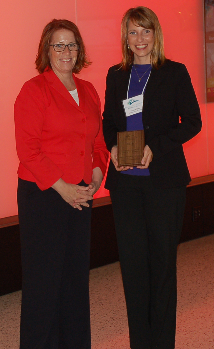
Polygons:
M73 78L79 106L52 70L27 81L15 102L18 175L41 190L59 178L88 184L95 167L106 171L100 99L90 82Z

